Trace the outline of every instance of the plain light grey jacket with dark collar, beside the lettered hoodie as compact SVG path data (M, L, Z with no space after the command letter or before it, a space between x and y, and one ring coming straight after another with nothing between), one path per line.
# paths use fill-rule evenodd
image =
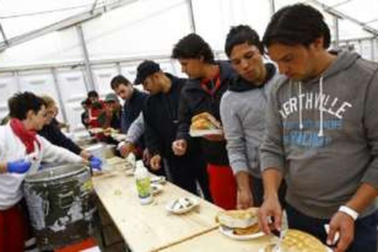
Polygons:
M222 96L220 114L234 174L246 171L261 178L259 146L264 136L268 93L283 78L272 64L266 67L268 78L262 87L237 77Z

